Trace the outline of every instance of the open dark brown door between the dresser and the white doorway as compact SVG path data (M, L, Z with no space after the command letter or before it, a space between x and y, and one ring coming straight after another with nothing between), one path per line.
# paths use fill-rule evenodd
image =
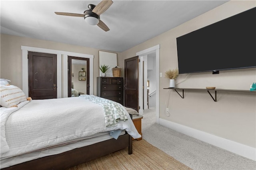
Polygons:
M139 111L138 56L124 60L124 102L126 107Z

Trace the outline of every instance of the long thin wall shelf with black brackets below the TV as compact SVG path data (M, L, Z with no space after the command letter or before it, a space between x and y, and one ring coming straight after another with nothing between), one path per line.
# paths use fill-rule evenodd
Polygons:
M217 91L256 92L256 91L250 91L250 90L206 89L206 88L164 88L164 89L175 90L180 95L180 97L182 99L184 99L184 90L206 90L210 94L210 96L212 97L212 100L214 100L214 102L217 102ZM182 90L182 95L177 90ZM215 98L212 96L210 91L214 91L215 92Z

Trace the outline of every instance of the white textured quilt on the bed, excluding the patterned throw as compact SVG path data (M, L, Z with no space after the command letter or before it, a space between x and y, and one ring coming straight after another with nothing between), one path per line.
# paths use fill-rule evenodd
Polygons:
M1 160L116 129L141 137L130 116L106 127L102 106L81 97L22 102L1 109Z

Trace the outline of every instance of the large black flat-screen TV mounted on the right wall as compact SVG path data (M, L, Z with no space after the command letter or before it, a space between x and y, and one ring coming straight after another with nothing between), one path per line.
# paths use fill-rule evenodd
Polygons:
M176 41L179 74L256 67L256 7Z

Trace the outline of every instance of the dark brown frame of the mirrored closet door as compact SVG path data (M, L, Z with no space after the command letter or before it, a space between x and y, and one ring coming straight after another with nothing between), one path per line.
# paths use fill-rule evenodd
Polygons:
M86 61L86 94L90 94L90 59L87 58L82 58L82 57L72 57L68 56L68 97L71 97L71 88L72 88L72 76L78 77L75 75L76 73L73 73L72 75L72 60L84 60Z

